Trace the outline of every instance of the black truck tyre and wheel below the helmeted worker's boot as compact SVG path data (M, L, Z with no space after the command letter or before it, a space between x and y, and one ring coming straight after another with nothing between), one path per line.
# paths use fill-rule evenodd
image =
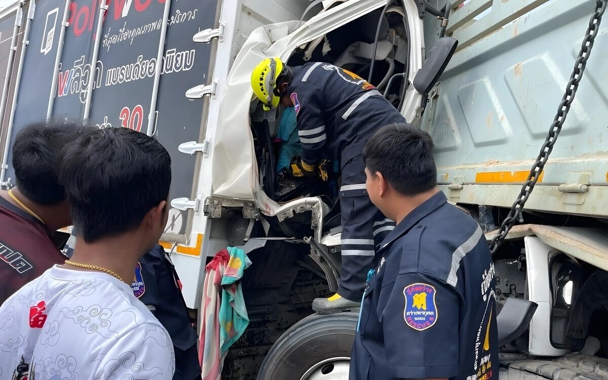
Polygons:
M258 380L347 380L357 319L313 314L295 323L266 355Z

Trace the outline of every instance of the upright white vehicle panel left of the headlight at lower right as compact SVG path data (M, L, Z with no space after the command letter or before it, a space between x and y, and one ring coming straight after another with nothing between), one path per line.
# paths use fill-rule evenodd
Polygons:
M559 350L551 345L551 286L549 279L549 260L561 252L543 243L537 237L523 239L526 249L526 271L528 299L538 304L530 322L531 355L561 356L568 350Z

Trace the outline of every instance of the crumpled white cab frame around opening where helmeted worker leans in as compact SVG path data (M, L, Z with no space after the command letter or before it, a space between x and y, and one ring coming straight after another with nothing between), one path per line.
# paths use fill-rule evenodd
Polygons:
M254 142L249 131L249 105L252 100L251 72L266 57L288 60L297 46L302 46L337 29L347 22L385 5L385 0L351 0L325 10L305 22L291 34L277 41L274 31L291 30L298 22L283 22L260 27L251 33L234 61L228 77L226 92L222 97L218 117L216 139L210 156L213 160L212 193L222 198L255 199L265 215L276 215L280 206L264 194L260 187L258 168L254 154ZM410 29L409 80L423 64L423 22L411 1L406 2L407 22ZM402 114L407 120L415 116L421 95L410 86L406 92Z

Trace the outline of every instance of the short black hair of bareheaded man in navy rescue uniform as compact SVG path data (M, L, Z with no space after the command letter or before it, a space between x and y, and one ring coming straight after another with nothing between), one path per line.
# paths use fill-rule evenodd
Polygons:
M380 128L363 148L367 170L376 172L402 195L417 195L437 186L433 140L407 123Z

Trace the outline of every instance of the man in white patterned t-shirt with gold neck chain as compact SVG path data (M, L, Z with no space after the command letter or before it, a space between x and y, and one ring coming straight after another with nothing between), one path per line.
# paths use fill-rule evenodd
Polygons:
M0 379L171 379L171 338L130 286L167 223L167 151L108 128L66 147L58 167L74 254L0 307Z

